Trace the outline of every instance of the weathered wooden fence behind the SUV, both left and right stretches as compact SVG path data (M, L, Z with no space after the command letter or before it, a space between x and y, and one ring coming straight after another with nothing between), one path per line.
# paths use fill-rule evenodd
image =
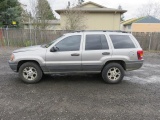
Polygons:
M62 30L0 29L0 46L31 46L45 44L64 33ZM144 50L160 51L160 33L132 33Z

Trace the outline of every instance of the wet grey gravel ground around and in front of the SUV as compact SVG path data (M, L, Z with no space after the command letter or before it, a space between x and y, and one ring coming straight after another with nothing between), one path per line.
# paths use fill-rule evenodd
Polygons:
M15 48L13 48L15 49ZM92 75L55 75L25 84L8 66L12 49L0 48L1 120L158 120L160 53L118 85Z

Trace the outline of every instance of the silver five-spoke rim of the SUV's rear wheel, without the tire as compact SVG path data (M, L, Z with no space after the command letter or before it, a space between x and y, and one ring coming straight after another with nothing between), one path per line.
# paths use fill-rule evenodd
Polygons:
M110 80L116 81L120 78L120 76L121 76L121 71L118 68L112 67L108 70L107 77Z

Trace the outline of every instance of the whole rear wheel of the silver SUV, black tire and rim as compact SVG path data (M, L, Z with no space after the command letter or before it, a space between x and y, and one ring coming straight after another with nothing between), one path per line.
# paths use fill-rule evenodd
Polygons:
M109 63L102 71L102 78L106 83L118 84L123 80L124 69L118 63Z

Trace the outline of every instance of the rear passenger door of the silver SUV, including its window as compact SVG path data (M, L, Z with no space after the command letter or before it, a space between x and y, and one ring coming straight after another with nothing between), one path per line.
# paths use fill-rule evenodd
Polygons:
M112 55L106 35L103 33L85 33L84 36L82 70L100 72L105 62Z

